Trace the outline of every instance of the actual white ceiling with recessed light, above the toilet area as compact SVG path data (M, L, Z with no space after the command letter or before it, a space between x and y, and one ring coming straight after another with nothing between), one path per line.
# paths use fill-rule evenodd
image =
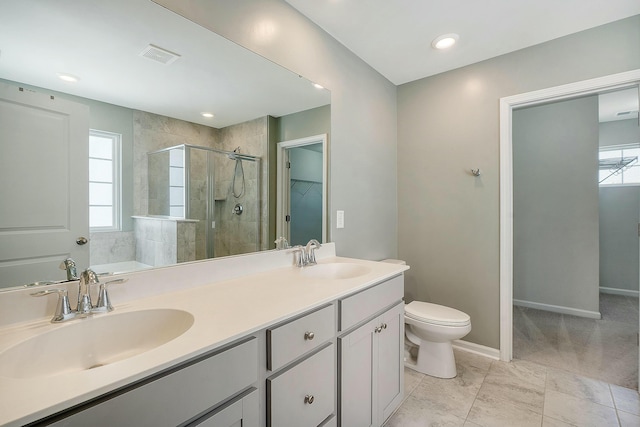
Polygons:
M639 0L286 0L400 85L640 14ZM460 35L447 51L431 47Z

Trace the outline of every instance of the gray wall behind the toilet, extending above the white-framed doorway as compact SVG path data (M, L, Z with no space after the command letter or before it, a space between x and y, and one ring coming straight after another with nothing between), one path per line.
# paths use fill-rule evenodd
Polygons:
M465 311L473 324L465 339L499 347L499 99L638 69L639 42L635 16L398 87L408 299ZM469 169L478 167L475 178Z

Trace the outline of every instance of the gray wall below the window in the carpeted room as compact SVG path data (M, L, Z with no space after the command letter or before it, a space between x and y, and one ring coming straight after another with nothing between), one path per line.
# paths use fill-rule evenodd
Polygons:
M600 286L638 291L640 187L600 188Z

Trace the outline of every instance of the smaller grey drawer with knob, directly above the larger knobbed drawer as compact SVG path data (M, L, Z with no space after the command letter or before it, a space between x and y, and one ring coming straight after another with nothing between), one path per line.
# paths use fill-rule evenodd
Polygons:
M335 330L333 305L267 329L267 369L275 371L319 347L335 335Z

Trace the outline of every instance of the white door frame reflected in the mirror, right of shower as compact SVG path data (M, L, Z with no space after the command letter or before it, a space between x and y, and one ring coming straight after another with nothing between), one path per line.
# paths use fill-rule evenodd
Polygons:
M285 160L288 160L288 151L291 148L303 147L305 145L322 144L322 242L326 243L329 240L328 236L328 215L327 215L327 200L329 189L329 147L327 134L319 134L314 136L308 136L305 138L298 138L289 141L278 142L277 158L277 177L276 177L276 236L283 236L289 240L289 224L287 223L285 216L288 212L288 205L290 203L290 184L289 184L289 170L286 167Z

